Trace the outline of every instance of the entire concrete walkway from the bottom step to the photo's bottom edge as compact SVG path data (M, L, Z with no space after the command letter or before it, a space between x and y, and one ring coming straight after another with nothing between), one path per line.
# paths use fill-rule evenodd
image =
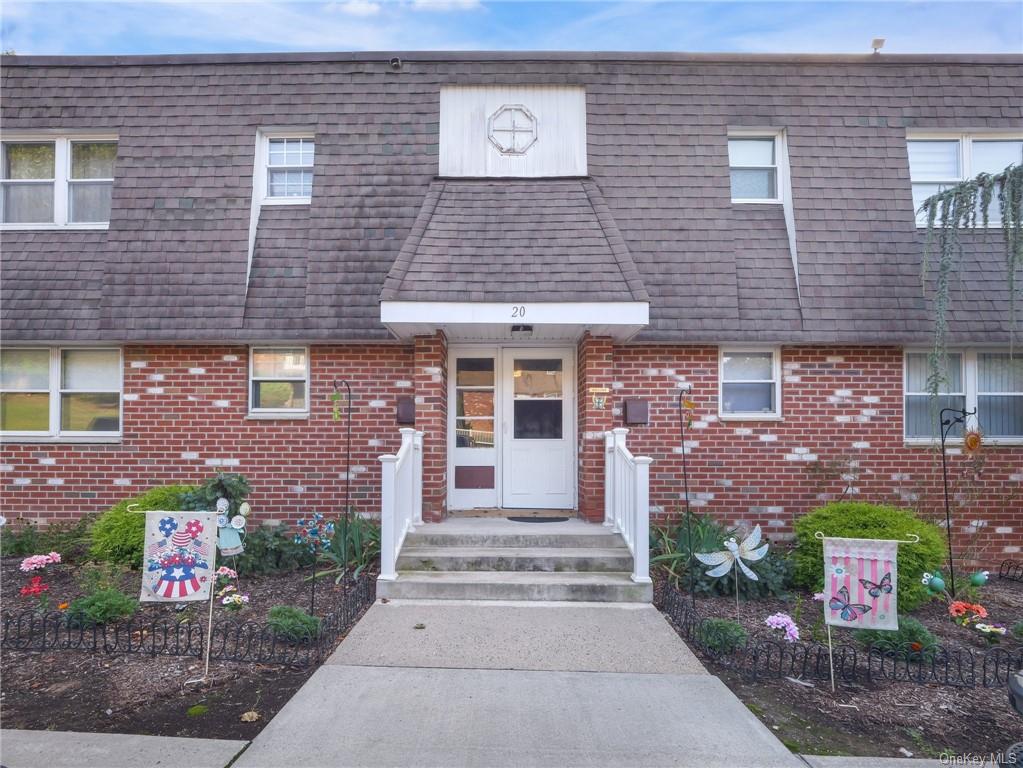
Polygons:
M649 604L447 600L373 605L235 763L281 765L806 768Z

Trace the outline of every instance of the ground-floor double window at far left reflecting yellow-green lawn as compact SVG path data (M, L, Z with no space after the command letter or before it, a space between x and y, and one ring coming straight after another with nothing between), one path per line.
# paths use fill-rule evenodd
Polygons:
M5 348L0 431L5 437L117 437L122 381L119 349Z

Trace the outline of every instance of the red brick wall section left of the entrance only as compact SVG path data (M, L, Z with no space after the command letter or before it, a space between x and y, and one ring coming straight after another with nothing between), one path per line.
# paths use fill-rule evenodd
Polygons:
M310 349L309 418L257 420L247 418L248 348L126 347L122 443L4 445L3 513L70 519L217 469L249 478L259 519L332 513L344 506L348 477L345 421L331 419L336 378L353 389L352 503L379 513L377 457L401 444L395 401L414 392L412 348Z

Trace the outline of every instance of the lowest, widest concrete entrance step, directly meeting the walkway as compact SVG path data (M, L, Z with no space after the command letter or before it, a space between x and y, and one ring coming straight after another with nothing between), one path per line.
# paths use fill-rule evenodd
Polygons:
M400 571L377 581L376 596L391 599L572 600L650 602L651 584L628 573L531 573L516 571Z

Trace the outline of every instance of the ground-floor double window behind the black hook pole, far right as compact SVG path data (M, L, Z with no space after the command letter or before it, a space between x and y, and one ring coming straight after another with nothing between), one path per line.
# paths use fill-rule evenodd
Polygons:
M1023 442L1023 357L1003 350L949 352L948 365L936 400L928 394L926 352L905 355L905 438L931 442L938 439L942 408L976 409L967 425L979 428L993 442ZM948 433L963 437L962 425Z

